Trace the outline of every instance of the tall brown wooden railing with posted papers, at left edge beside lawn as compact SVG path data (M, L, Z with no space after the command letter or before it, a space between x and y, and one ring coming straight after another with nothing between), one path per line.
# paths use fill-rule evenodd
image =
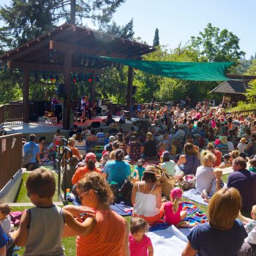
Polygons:
M22 133L0 137L0 190L22 167Z

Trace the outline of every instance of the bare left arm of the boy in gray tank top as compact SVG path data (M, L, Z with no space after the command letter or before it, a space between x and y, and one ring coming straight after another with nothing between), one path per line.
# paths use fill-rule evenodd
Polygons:
M25 246L28 239L29 213L24 211L20 219L20 227L12 233L12 239L17 246Z

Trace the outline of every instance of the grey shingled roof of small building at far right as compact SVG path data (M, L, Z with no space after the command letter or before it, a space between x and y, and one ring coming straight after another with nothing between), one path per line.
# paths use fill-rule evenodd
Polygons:
M240 80L227 80L219 84L219 86L211 90L211 92L221 94L245 94L249 81L256 79L256 76L248 75L227 75L227 77Z

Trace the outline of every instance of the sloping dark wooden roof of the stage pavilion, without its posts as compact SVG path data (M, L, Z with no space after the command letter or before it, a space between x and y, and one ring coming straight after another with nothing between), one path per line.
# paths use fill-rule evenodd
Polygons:
M113 67L109 61L96 58L99 56L140 59L154 50L140 42L65 23L0 58L1 65L9 68L51 71L57 66L64 67L64 52L69 52L72 53L72 67L79 71Z

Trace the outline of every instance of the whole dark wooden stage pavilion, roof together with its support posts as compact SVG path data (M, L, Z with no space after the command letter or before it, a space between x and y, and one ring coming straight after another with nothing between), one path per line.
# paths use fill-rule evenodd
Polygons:
M99 59L99 56L141 59L141 56L154 50L155 48L140 42L65 23L1 56L1 66L23 70L24 123L29 122L30 71L63 72L65 89L63 124L64 129L69 129L71 72L91 74L90 97L94 102L96 76L102 74L105 67L115 65ZM132 105L132 80L133 69L129 67L128 109Z

